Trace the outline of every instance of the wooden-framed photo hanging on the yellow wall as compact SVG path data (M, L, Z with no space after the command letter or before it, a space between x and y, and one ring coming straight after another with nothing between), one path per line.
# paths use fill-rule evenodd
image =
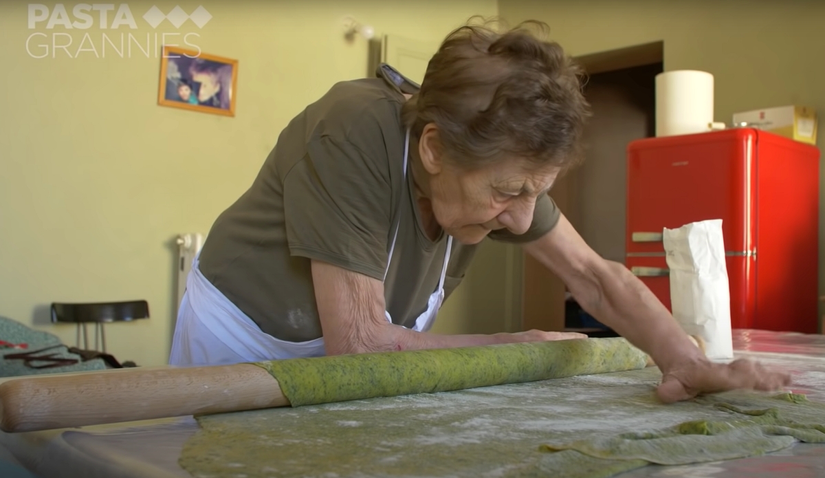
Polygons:
M235 116L238 60L163 46L158 105Z

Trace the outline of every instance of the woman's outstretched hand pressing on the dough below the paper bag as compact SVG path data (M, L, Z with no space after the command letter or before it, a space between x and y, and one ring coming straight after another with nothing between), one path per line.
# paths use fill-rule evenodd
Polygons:
M714 363L707 358L677 362L662 371L659 399L665 403L688 400L700 393L726 390L780 390L789 386L790 374L767 369L758 362L739 359L731 363Z

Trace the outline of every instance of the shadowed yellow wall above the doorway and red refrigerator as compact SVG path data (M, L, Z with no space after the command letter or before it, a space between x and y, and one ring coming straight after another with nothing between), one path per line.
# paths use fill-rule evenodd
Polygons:
M825 116L825 2L500 0L499 15L511 24L546 21L553 40L575 56L663 40L666 71L714 74L717 121L732 121L735 111L791 104L812 106L820 122ZM825 188L821 192L825 215ZM821 238L823 225L820 220ZM825 277L825 252L819 257Z

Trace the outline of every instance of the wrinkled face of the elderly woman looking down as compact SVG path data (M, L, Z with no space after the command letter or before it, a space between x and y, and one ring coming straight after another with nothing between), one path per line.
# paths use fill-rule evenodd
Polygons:
M462 168L438 151L427 157L426 148L424 140L419 150L429 173L432 211L441 228L462 244L477 244L493 230L524 234L533 222L535 202L559 175L558 167L536 168L517 158Z

